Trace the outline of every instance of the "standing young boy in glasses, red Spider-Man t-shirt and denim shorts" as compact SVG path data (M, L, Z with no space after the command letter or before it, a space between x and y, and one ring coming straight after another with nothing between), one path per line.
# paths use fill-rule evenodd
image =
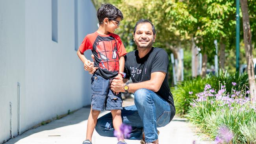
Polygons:
M119 28L123 19L122 12L111 4L102 4L97 11L99 28L95 33L86 35L77 54L84 63L85 70L93 68L92 62L85 58L83 52L92 50L95 57L94 67L98 67L91 78L91 111L87 123L86 140L83 144L92 144L91 137L96 126L98 115L104 109L110 110L113 117L113 126L117 133L122 124L121 93L110 90L111 79L124 77L124 55L126 50L115 29ZM123 136L117 144L126 144Z

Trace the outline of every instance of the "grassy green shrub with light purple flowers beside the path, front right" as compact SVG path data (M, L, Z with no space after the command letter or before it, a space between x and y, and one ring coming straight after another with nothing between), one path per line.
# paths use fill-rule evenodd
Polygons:
M250 102L246 86L240 89L233 84L230 93L225 85L218 92L206 85L203 92L196 94L186 117L213 139L219 137L219 128L225 126L233 134L229 144L254 144L256 101Z

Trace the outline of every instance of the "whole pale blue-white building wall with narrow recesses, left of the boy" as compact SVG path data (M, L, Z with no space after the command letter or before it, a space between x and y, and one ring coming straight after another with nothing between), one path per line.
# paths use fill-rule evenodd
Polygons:
M0 144L90 104L76 50L97 23L91 0L0 0Z

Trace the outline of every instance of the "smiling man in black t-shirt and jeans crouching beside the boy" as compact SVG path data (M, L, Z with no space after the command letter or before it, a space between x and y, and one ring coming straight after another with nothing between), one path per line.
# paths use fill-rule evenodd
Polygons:
M155 39L154 25L149 20L139 20L134 28L137 50L125 56L126 76L113 79L110 86L115 92L134 93L135 105L124 107L121 115L123 123L132 126L130 139L141 139L141 144L158 144L157 127L169 124L175 115L167 78L168 55L165 50L152 47ZM129 78L133 83L126 85ZM102 136L113 137L111 114L100 117L95 129Z

